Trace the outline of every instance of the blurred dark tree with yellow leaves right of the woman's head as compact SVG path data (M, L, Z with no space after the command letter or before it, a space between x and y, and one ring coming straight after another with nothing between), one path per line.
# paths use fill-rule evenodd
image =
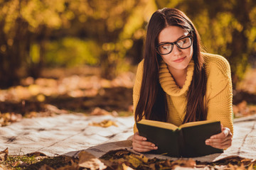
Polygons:
M235 88L256 51L256 1L156 0L156 6L178 8L191 18L206 50L230 62Z

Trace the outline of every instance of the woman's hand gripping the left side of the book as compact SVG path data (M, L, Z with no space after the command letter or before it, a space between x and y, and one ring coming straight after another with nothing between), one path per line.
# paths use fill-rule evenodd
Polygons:
M137 152L149 152L153 149L157 149L156 145L146 141L146 137L139 135L139 132L134 133L132 137L132 147Z

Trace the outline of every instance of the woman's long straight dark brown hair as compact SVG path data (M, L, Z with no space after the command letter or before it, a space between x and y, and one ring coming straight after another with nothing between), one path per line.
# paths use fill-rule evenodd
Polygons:
M169 110L166 94L159 83L161 56L156 52L158 37L167 26L178 26L193 35L194 71L187 94L186 115L183 123L206 120L207 109L203 98L206 94L206 72L201 55L201 39L192 21L176 8L163 8L150 18L144 50L144 68L139 101L135 110L137 121L146 118L166 122Z

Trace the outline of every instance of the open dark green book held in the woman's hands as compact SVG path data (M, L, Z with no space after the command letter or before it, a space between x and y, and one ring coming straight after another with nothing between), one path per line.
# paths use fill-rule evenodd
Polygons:
M155 120L137 122L139 135L146 137L158 149L151 154L164 154L169 157L202 157L207 154L223 153L206 145L206 140L221 132L220 121L204 120L185 123L179 127L171 123Z

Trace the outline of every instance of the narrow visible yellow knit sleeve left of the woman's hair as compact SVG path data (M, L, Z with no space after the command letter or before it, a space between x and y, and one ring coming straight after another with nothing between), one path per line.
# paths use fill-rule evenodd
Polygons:
M139 101L140 89L141 89L141 86L142 86L143 65L144 65L144 60L142 60L142 62L140 62L139 65L138 65L136 79L135 79L135 82L134 82L134 88L133 88L133 94L132 94L133 106L134 106L134 115L135 115L135 110L137 108L137 104L138 104L138 101ZM135 118L135 116L134 116L134 118ZM138 130L137 130L136 123L134 123L134 133L137 132L137 131Z

